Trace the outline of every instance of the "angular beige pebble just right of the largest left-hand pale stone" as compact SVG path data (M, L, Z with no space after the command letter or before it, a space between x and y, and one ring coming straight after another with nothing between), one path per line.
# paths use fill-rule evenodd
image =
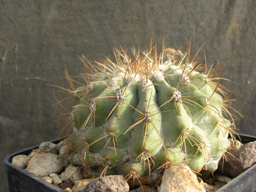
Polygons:
M65 181L66 179L70 179L72 182L76 182L77 180L82 180L83 176L79 167L68 166L64 172L61 173L60 179Z

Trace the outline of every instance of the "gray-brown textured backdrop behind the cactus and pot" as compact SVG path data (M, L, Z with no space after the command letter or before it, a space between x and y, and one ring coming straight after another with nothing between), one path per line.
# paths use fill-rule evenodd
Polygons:
M57 108L50 85L66 86L70 74L83 70L77 55L99 60L113 57L112 47L149 45L151 35L161 45L192 54L204 46L207 63L228 57L223 82L236 90L233 106L244 118L239 132L255 129L255 10L252 0L230 1L0 1L0 148L2 159L12 152L54 139ZM201 59L203 51L197 57ZM7 177L1 163L1 183Z

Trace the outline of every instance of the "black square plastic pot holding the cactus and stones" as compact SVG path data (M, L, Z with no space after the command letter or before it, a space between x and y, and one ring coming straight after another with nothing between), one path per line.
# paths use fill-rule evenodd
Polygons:
M249 143L256 141L255 136L243 135L240 134L242 143ZM58 140L51 141L53 143L58 143ZM4 163L7 169L7 176L9 182L10 192L22 191L59 191L64 192L64 190L46 182L40 177L35 176L34 174L14 166L11 162L12 158L16 155L24 154L28 155L32 152L33 149L38 148L39 146L30 147L22 151L13 153L4 158ZM242 174L238 175L230 182L228 182L223 187L219 188L216 192L221 191L235 191L235 192L253 192L256 191L256 164L244 171Z

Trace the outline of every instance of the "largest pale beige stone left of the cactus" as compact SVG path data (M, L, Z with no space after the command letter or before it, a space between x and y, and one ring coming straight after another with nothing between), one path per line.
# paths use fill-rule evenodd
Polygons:
M45 177L60 172L62 165L58 155L42 153L34 155L29 160L26 170L38 177Z

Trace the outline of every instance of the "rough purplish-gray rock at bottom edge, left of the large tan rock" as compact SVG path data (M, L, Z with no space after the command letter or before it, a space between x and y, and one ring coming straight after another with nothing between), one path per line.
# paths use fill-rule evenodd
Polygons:
M122 175L98 177L86 185L83 192L128 192L129 185Z

